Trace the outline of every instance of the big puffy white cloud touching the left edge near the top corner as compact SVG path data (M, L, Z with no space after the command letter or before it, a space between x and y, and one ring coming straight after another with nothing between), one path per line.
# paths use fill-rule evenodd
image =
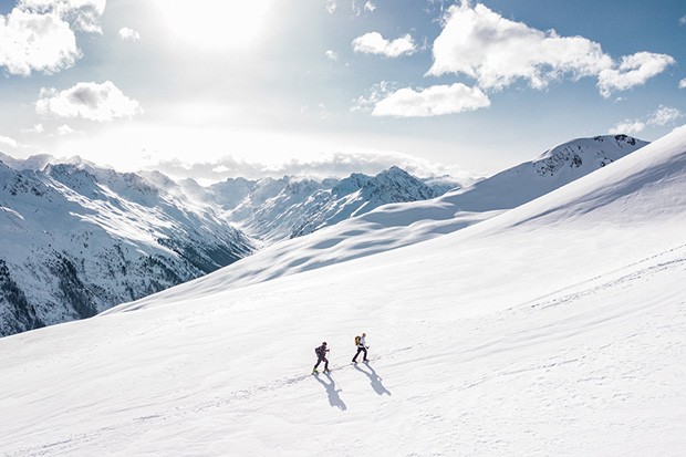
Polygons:
M18 8L0 15L0 66L10 74L56 73L80 58L74 32L58 15Z

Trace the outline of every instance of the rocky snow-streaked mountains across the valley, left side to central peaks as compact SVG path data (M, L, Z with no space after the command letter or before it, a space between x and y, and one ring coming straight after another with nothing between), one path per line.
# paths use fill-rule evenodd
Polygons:
M0 336L90 318L281 238L455 186L429 186L392 168L374 177L201 187L77 157L0 160Z

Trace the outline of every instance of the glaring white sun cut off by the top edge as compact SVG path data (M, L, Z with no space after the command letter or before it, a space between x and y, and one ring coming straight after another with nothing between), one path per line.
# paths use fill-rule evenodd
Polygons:
M273 0L156 0L169 32L209 50L241 50L264 30Z

